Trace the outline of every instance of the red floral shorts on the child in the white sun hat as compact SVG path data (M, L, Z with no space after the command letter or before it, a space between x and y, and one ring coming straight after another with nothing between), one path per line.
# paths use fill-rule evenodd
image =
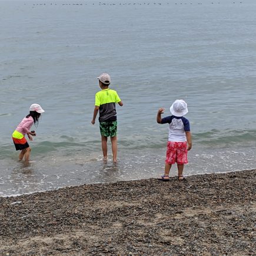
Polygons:
M168 141L165 162L167 164L175 164L175 162L177 164L187 164L187 142Z

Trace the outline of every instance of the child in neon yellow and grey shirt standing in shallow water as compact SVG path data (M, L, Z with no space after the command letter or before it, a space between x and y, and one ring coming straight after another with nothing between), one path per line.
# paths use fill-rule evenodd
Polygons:
M91 123L95 124L95 119L99 111L99 129L101 131L101 146L103 159L108 159L108 137L111 138L113 162L117 162L117 111L115 104L122 106L122 101L116 91L109 89L110 76L101 74L99 77L99 87L101 91L95 94L94 116Z

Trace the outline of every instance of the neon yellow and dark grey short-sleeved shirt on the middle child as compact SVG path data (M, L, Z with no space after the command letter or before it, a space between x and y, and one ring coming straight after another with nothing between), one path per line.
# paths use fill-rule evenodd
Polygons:
M116 91L112 89L103 89L95 94L95 106L99 107L99 122L108 122L117 120L117 111L115 104L120 102Z

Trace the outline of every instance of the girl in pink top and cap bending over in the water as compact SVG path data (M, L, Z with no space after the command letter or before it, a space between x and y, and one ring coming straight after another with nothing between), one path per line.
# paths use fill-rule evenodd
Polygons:
M33 123L35 125L38 125L38 120L42 112L45 111L41 108L40 105L32 104L29 108L29 114L22 119L22 121L12 134L12 140L14 141L16 150L21 150L21 152L19 153L19 161L21 161L24 157L25 162L29 161L31 148L26 141L25 135L28 135L29 141L33 140L32 136L35 136L36 133L29 130L32 127Z

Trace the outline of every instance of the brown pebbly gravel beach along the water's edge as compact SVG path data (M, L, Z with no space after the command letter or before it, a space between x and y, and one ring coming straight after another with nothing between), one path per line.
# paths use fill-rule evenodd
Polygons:
M256 170L0 198L0 255L255 255Z

